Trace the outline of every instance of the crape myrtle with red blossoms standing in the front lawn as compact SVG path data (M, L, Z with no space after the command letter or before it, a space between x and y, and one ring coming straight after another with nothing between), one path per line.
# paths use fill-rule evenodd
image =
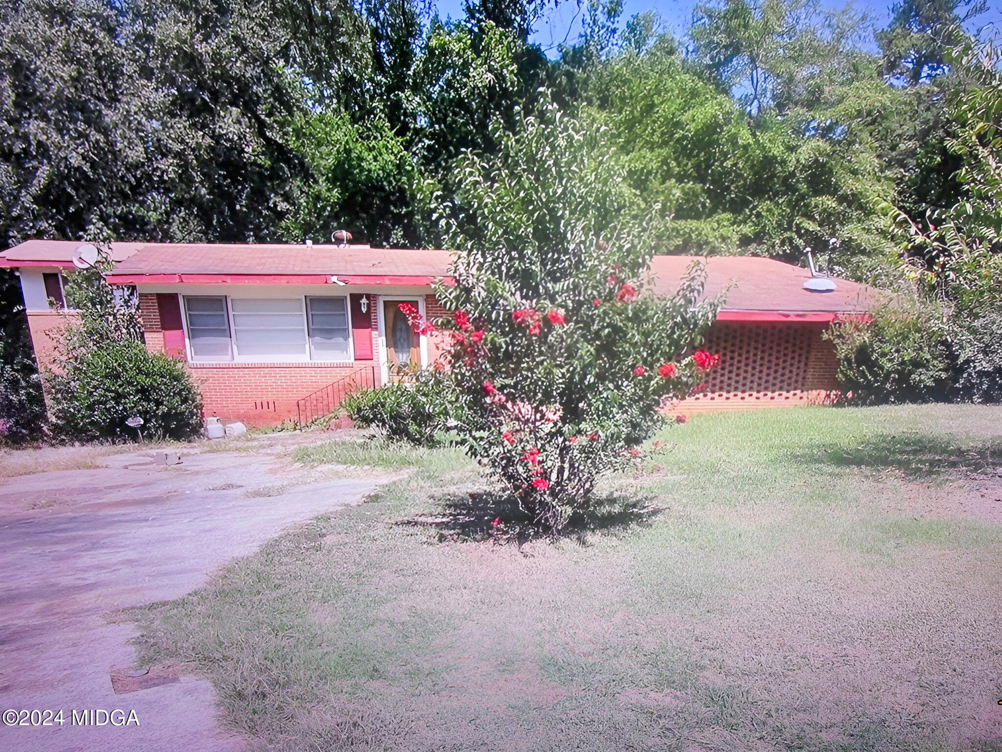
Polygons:
M433 202L455 285L454 425L535 524L558 531L596 478L639 456L715 365L693 353L719 301L693 266L676 295L649 287L656 207L644 207L603 130L554 105L499 132L490 160L466 152L454 197ZM414 312L411 311L413 314Z

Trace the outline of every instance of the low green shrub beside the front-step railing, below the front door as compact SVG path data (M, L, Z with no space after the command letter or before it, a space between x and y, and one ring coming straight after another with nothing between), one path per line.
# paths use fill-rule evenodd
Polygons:
M442 374L422 371L407 383L353 392L342 407L356 424L375 428L387 438L434 446L446 430L447 393Z

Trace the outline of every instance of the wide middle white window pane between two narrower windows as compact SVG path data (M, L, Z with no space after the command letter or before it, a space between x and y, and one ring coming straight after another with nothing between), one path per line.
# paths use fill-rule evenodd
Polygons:
M233 344L240 360L305 360L302 298L230 298Z

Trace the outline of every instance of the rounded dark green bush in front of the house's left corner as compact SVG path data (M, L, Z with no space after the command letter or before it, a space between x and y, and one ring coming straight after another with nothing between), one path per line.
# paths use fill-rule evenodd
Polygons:
M144 438L185 439L201 428L201 397L181 363L141 342L95 343L48 376L53 424L79 440L134 440L125 424L143 419Z

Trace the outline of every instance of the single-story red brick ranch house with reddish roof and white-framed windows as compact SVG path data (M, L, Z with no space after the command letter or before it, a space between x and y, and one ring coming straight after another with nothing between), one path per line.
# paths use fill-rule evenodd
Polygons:
M62 275L80 244L28 241L0 254L20 275L32 343L50 362L63 321ZM183 359L205 415L250 426L305 422L330 412L346 388L385 383L392 364L427 366L434 336L411 332L407 302L430 319L445 310L432 291L447 277L445 251L368 246L114 243L111 285L138 294L146 347ZM658 293L672 294L693 257L654 257ZM832 344L823 332L860 315L874 291L837 280L804 289L810 272L759 257L709 257L705 294L731 282L705 348L721 355L707 391L681 412L819 404L837 395Z

